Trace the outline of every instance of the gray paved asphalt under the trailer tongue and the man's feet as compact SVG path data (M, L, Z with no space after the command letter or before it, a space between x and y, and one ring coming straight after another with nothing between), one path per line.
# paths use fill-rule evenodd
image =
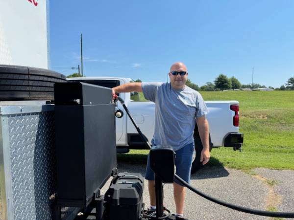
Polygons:
M145 166L119 163L119 172L145 174ZM279 211L294 212L294 171L256 169L255 175L239 170L206 167L192 175L191 182L202 192L224 201L266 210L276 207ZM164 204L172 213L172 184L164 186ZM144 202L149 206L147 181L145 181ZM270 220L268 217L241 213L212 203L191 191L187 192L185 218L191 220Z

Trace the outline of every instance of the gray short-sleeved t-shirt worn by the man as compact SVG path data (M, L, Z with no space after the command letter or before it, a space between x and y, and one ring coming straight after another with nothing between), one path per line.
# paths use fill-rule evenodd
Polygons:
M152 145L170 145L174 151L194 142L197 117L208 113L202 96L185 86L181 90L170 83L142 83L146 99L155 103L155 131Z

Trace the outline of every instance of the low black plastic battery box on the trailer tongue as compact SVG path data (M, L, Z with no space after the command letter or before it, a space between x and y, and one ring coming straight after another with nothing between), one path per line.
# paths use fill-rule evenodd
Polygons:
M141 220L144 179L138 173L120 173L104 196L106 220Z

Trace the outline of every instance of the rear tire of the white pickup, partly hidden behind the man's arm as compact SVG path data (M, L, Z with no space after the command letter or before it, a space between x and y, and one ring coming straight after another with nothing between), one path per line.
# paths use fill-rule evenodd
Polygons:
M192 168L191 168L191 174L194 174L196 171L198 171L202 166L202 162L200 162L200 155L201 155L201 151L203 149L203 145L198 133L198 127L197 125L195 126L195 130L194 130L194 143L195 143L195 156L194 156L194 160L192 162ZM209 134L209 151L211 152L213 147L213 143L211 143L211 138L210 138L210 134Z

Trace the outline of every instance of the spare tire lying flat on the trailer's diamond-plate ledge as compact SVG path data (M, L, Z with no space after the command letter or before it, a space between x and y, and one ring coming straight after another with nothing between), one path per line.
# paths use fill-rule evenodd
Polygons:
M0 101L52 101L57 82L66 82L66 76L48 69L0 65Z

